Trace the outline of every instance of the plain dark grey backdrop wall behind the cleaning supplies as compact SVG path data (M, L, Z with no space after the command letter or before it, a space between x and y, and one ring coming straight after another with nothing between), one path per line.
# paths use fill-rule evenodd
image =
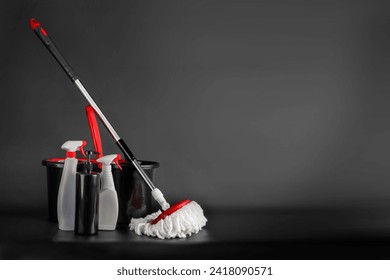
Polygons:
M35 17L135 155L160 162L169 201L387 204L389 6L1 0L0 203L45 205L41 160L92 143L86 102Z

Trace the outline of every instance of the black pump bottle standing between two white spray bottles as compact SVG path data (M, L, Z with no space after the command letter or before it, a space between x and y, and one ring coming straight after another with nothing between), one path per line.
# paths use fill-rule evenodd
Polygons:
M91 156L94 151L85 151L87 161L83 172L76 174L75 233L94 235L98 232L100 174L93 172Z

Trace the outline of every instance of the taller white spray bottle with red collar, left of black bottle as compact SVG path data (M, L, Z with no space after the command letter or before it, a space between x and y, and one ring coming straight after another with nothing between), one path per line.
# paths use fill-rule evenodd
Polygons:
M57 215L60 230L74 230L77 171L76 151L80 150L85 156L83 147L86 144L87 142L85 141L67 141L61 146L61 149L66 151L66 159L58 189Z

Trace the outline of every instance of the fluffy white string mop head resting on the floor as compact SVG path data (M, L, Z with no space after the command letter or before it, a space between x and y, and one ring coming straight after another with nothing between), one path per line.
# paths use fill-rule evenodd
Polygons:
M187 235L191 236L198 233L207 222L203 215L203 209L195 201L189 202L172 214L158 220L160 214L161 211L159 210L145 218L131 219L130 230L134 230L138 235L160 239L185 238ZM153 224L154 220L158 220L158 222Z

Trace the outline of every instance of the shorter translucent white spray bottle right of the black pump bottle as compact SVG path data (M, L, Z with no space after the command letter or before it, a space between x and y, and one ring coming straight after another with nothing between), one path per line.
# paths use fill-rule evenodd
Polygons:
M99 230L115 230L118 220L118 196L111 173L111 162L114 161L122 169L119 165L119 156L106 155L97 159L97 161L103 164L100 174Z

